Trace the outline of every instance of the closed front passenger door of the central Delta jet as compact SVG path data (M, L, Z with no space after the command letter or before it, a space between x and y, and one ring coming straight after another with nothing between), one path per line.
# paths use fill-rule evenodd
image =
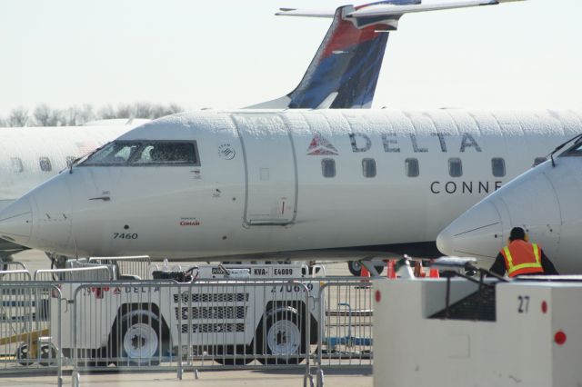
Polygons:
M233 116L246 172L246 225L285 225L296 217L297 178L293 139L276 114Z

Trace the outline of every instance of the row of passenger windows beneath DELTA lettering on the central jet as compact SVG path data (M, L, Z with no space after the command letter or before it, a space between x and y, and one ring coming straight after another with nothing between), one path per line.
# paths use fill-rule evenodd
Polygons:
M534 166L546 161L546 157L536 157ZM417 177L420 174L420 164L416 158L407 158L404 162L406 176ZM321 161L321 172L324 177L336 177L336 160L323 159ZM376 160L362 159L362 174L364 177L376 177ZM448 159L448 174L451 177L461 177L463 175L463 162L459 158ZM491 174L495 177L506 175L506 161L501 157L491 159Z

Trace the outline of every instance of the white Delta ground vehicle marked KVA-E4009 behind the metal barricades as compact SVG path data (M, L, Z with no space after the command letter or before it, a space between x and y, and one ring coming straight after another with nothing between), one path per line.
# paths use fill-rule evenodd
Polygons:
M200 267L192 283L63 283L65 356L93 365L186 355L225 364L301 362L317 339L321 305L310 295L318 281L292 282L302 277L299 265L226 266L230 275L223 268Z

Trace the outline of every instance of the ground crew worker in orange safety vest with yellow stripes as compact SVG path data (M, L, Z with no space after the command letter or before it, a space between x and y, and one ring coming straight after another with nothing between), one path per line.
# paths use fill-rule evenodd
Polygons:
M546 254L536 243L529 243L527 234L521 227L514 227L509 234L507 246L497 254L495 263L489 269L497 275L516 277L517 275L547 274L557 275Z

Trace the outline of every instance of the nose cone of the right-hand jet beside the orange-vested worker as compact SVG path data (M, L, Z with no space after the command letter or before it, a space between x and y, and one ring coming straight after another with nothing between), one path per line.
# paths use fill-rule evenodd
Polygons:
M477 203L437 236L437 248L452 256L493 259L503 243L503 223L494 203Z

